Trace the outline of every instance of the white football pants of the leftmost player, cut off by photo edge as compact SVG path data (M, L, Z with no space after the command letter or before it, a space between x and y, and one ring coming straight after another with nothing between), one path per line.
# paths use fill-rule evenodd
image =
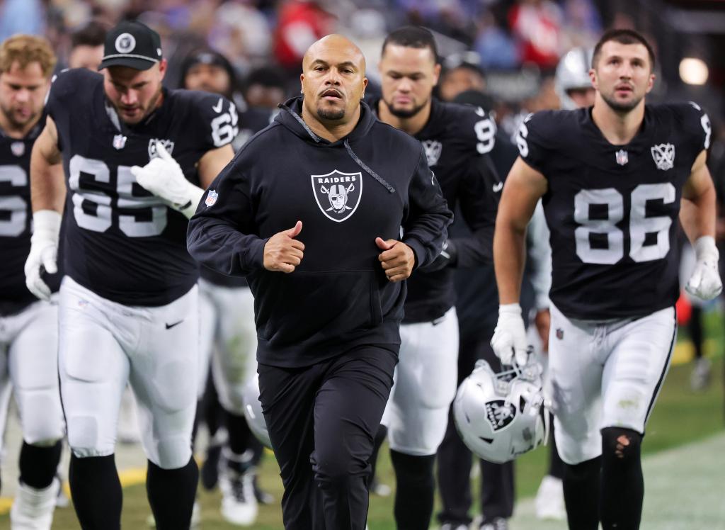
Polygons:
M37 301L0 317L0 428L11 388L20 412L22 439L51 446L64 434L58 390L58 307Z

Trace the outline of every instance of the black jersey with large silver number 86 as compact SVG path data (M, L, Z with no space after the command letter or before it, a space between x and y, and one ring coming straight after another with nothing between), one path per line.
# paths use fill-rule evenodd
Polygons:
M682 186L710 134L694 103L646 105L626 145L610 144L590 109L526 118L518 149L548 182L550 298L563 314L618 319L674 305Z

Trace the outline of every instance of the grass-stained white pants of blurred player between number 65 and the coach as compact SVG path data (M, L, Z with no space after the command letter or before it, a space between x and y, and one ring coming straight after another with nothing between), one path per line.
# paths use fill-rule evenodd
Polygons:
M247 287L231 288L199 280L202 298L202 359L211 357L219 402L244 414L244 385L257 374L254 296ZM202 382L202 394L206 375Z

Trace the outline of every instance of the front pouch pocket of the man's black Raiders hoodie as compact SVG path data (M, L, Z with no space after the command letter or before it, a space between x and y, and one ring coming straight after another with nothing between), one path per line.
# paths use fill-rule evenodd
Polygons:
M276 346L334 340L383 322L373 271L268 273L255 280L257 330Z

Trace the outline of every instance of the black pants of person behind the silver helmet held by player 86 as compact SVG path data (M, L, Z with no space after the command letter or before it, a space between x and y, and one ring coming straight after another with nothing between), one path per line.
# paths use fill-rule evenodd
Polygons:
M461 328L458 347L458 384L473 372L478 359L486 359L495 372L500 367L499 359L492 350L489 340L493 330L478 329L465 333ZM448 416L448 428L438 448L438 486L441 493L442 510L438 520L442 523L471 523L471 463L472 454L465 447L455 428L452 409ZM513 462L494 464L481 460L481 513L484 521L513 514L514 477Z

